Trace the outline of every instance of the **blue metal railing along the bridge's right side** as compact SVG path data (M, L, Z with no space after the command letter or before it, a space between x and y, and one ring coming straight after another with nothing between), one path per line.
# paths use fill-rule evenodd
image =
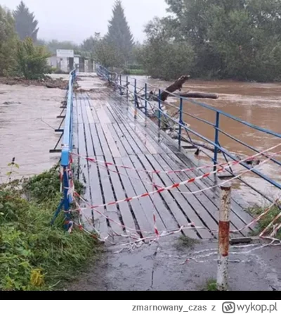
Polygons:
M158 102L158 106L153 105L150 101L148 101L148 86L150 85L151 87L155 88L154 85L148 84L147 82L143 82L141 80L136 80L133 79L133 87L131 88L131 90L129 89L128 86L128 82L129 82L129 77L126 76L126 80L122 80L122 75L117 75L117 73L112 73L110 72L110 70L107 70L107 68L98 65L98 71L97 71L98 75L100 75L100 77L103 77L104 79L108 80L111 84L113 84L115 86L115 89L120 90L120 94L122 94L122 91L124 89L126 89L126 96L128 98L128 93L133 94L133 99L134 99L134 106L137 107L138 106L138 99L142 99L145 102L145 115L148 115L148 103L150 103L150 106L154 106L155 111L157 111L157 113L155 114L156 118L158 119L158 125L160 127L161 125L161 120L162 117L165 117L168 120L173 121L173 123L175 123L176 125L178 125L178 148L181 149L181 142L183 139L183 131L185 131L188 134L188 137L190 138L190 134L195 135L196 137L199 137L200 139L202 139L204 142L207 142L208 144L210 144L211 146L214 146L214 156L210 157L211 160L214 162L214 170L216 169L216 165L218 164L218 152L220 151L221 153L223 153L223 156L226 158L226 161L228 161L228 158L232 159L233 161L237 161L237 156L235 156L233 153L230 153L227 149L223 148L219 142L219 137L220 134L224 134L226 137L233 139L235 142L241 144L244 147L247 147L247 149L251 149L251 151L254 151L255 153L261 153L261 151L259 149L256 149L255 147L242 142L240 139L237 139L236 137L234 137L233 135L229 134L228 132L221 130L220 128L220 120L221 120L221 116L224 116L226 118L229 118L231 120L235 120L237 123L240 123L240 125L245 125L247 127L250 127L253 130L259 131L263 134L269 134L271 136L273 136L275 139L281 139L281 134L277 133L277 132L273 132L272 130L268 130L265 129L263 127L259 127L257 125L253 125L251 123L248 123L247 121L244 121L240 118L235 117L234 115L230 115L229 113L226 113L224 111L218 110L217 108L214 108L212 106L207 105L206 103L202 103L200 101L195 101L192 99L188 99L186 97L181 97L178 96L174 93L169 93L171 95L173 95L174 97L177 97L180 101L180 106L173 106L169 103L165 102L165 106L170 106L171 108L175 108L179 111L179 118L178 120L176 120L176 118L171 117L168 113L164 112L162 110L162 100L160 98L160 95L162 92L161 89L158 90L158 95L157 96L153 96L155 100L157 100ZM117 77L119 76L119 80L117 82ZM112 77L114 77L115 79L112 80ZM125 87L122 86L122 82L126 82ZM137 82L138 82L138 86L137 86ZM144 90L144 96L140 96L139 93L140 91ZM209 110L210 112L213 112L215 114L215 123L212 123L210 121L204 120L200 117L197 117L196 115L192 115L191 113L187 113L183 110L183 101L188 101L188 103L192 103L195 106L200 106L201 108L206 108L207 110ZM188 116L191 118L194 118L197 121L200 121L202 123L205 123L211 127L214 128L214 140L208 139L207 137L204 137L204 135L196 132L195 130L192 130L190 127L188 127L187 125L185 125L185 123L183 122L183 117L184 116ZM192 139L190 138L190 142L192 143ZM263 156L266 156L266 154L261 154ZM227 158L228 157L228 158ZM266 156L267 158L270 158L268 156ZM275 158L270 158L270 161L273 161L273 163L277 164L277 165L281 165L280 161L277 161ZM272 184L274 187L277 187L278 189L281 189L281 184L278 183L277 181L271 179L270 177L268 177L267 175L264 175L263 173L261 173L260 171L256 170L256 169L251 169L251 167L247 164L247 163L241 163L241 165L244 168L247 168L248 170L251 170L251 172L253 172L254 174L258 175L259 177L261 177L263 180L265 180L266 182L269 182L270 184ZM231 170L228 170L228 172L231 172ZM242 182L244 182L244 180L242 180L241 178L239 179ZM250 184L246 183L249 187L251 187ZM251 187L252 189L254 189L254 191L258 192L259 194L261 194L263 197L265 197L266 199L268 199L269 201L272 201L268 196L266 196L265 194L263 194L263 192L258 191L256 188Z

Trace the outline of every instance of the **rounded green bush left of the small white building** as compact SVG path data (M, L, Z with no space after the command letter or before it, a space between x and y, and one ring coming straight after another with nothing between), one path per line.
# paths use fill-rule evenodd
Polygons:
M39 80L48 72L47 58L50 56L44 46L36 46L32 38L18 42L15 74L27 80Z

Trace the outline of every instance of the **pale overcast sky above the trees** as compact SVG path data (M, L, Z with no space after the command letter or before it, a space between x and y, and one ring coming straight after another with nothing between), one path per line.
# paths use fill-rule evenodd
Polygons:
M86 37L107 32L115 0L25 0L39 21L40 39L71 40L80 43ZM0 0L0 5L15 9L20 0ZM143 27L155 15L166 15L164 0L122 0L133 37L145 39Z

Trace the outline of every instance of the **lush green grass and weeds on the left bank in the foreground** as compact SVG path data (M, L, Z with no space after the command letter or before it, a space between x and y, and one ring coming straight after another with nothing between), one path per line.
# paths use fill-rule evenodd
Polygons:
M59 190L57 167L0 186L0 290L58 289L98 253L93 237L63 230L63 213L51 227Z

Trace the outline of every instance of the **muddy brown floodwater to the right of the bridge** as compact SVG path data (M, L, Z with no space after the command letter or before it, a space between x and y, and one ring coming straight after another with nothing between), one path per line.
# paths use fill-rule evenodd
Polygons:
M133 77L135 78L135 77ZM154 87L160 87L164 89L169 86L171 82L164 82L162 80L153 80L148 77L136 77L138 87L143 87L144 81L147 81L149 84L152 84ZM154 87L149 87L148 90L154 90L157 92L157 89ZM183 87L183 92L210 92L218 94L218 99L195 99L202 103L207 103L214 108L234 115L241 120L247 121L259 127L263 127L274 132L281 134L281 83L256 83L256 82L233 82L233 81L199 81L199 80L190 80L185 83ZM179 106L178 99L170 98L169 103L173 106ZM173 108L166 106L166 109L174 112ZM211 123L215 123L216 113L202 106L190 103L189 101L183 101L183 109L186 113L191 113L192 115L202 118ZM214 141L214 127L202 123L201 121L195 120L187 115L183 115L183 119L186 123L190 125L192 130L202 134L204 137ZM248 127L247 125L242 125L235 120L226 118L221 115L220 118L220 128L224 132L233 137L239 139L240 141L253 146L256 149L264 150L272 146L275 146L281 143L280 139L273 137L270 134L264 132L259 132L257 130ZM200 140L198 137L192 136L193 139ZM224 134L219 135L219 142L221 146L228 149L228 151L237 153L240 156L251 156L255 152L248 149L246 146L235 142L233 139L226 137ZM281 151L281 146L278 149L273 150L272 152ZM209 155L213 156L213 153L208 152ZM201 159L207 161L207 158L204 156L200 157ZM219 156L219 161L225 161L223 156ZM281 153L278 153L275 158L281 161ZM239 168L238 171L245 170L244 168ZM260 168L257 168L263 175L267 175L277 182L281 182L281 168L275 163L266 163L261 165ZM242 177L249 184L254 186L259 191L268 194L268 196L273 197L279 195L280 190L274 188L268 182L265 182L260 177L254 174L247 174ZM252 189L247 187L244 183L235 180L234 182L235 189L240 191L240 194L244 199L249 201L249 203L263 203L264 200L259 194L256 194Z

